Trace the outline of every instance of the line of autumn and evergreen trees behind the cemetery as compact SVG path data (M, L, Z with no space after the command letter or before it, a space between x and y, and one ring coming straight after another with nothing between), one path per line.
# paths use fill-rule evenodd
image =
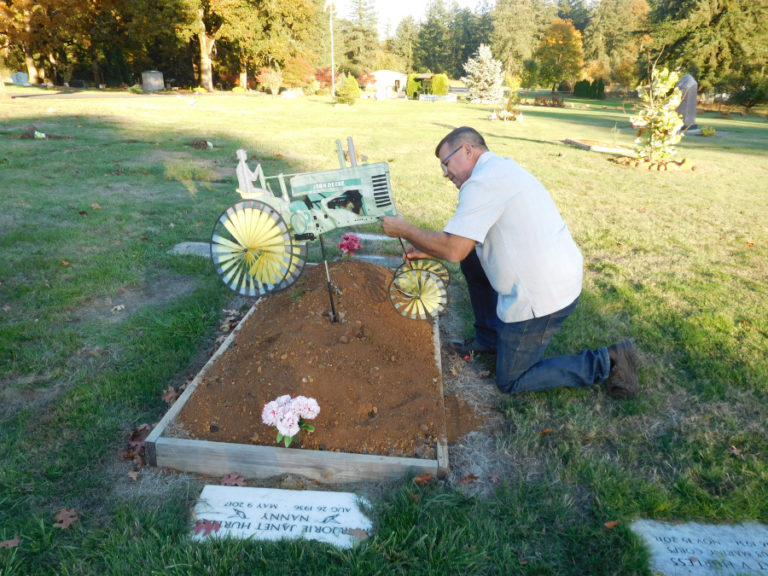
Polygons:
M768 0L431 0L381 40L372 0L0 0L0 66L30 81L131 85L159 70L181 87L365 84L391 69L460 78L481 45L523 86L600 80L633 89L653 64L704 90L768 91ZM333 40L333 42L332 42ZM333 44L333 57L331 45Z

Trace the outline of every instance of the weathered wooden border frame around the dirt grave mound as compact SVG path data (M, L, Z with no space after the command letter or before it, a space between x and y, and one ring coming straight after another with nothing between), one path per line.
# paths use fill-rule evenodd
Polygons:
M251 307L219 349L206 362L184 393L174 402L163 419L147 436L144 443L150 466L173 468L204 476L222 476L237 472L244 478L269 478L283 474L299 474L323 483L358 482L363 480L397 480L406 474L431 474L444 477L448 473L448 435L445 424L445 402L442 376L439 382L440 410L443 421L437 440L437 459L351 454L319 450L290 449L278 446L257 446L174 438L164 433L198 384L216 361L235 340L240 327L250 318L258 301ZM440 363L440 329L437 320L432 325L435 362L442 375Z

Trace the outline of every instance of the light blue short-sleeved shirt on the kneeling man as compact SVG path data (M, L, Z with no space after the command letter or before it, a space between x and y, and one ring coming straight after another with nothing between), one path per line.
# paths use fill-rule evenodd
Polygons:
M584 262L568 226L541 182L510 158L478 158L444 231L477 242L503 322L557 312L581 293Z

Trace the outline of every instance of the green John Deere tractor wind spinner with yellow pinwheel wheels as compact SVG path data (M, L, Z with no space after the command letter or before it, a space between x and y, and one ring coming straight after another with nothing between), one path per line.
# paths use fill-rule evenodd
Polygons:
M288 288L304 269L307 243L319 241L335 321L323 234L397 214L389 165L358 165L352 139L347 142L350 166L337 140L340 169L269 178L260 164L251 171L246 152L237 151L241 200L222 212L211 235L211 260L230 289L261 297ZM403 316L433 318L445 308L449 280L436 260L404 262L390 283L390 300Z

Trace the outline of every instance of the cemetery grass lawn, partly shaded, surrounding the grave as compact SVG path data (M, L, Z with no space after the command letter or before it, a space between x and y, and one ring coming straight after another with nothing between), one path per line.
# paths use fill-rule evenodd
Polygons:
M716 135L679 146L696 169L662 173L563 144L631 146L620 101L502 123L463 103L12 93L0 99L0 575L650 574L636 518L768 523L765 119L700 115ZM233 302L209 262L169 249L207 241L239 198L238 148L267 175L303 172L337 167L348 136L389 163L407 218L442 228L457 191L433 151L460 125L546 185L583 250L582 301L552 351L634 337L641 393L504 398L494 442L509 472L492 495L381 486L375 535L351 551L191 542L202 480L133 480L118 457L210 355ZM47 138L21 138L32 126ZM54 526L62 508L79 515L68 529Z

